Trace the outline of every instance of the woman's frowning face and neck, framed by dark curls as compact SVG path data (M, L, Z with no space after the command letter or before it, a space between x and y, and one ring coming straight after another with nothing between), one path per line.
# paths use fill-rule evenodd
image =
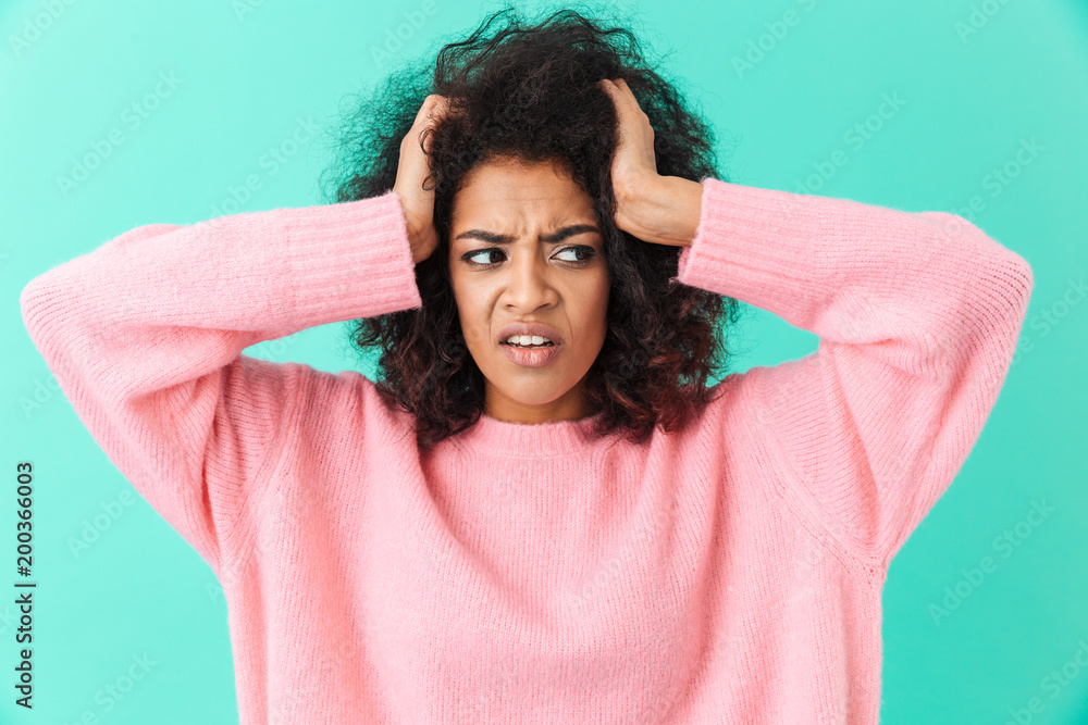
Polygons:
M486 378L484 412L515 423L591 414L582 380L604 345L608 304L592 200L549 162L495 159L465 182L453 201L449 273L461 333ZM517 323L549 326L553 346L509 347L504 328Z

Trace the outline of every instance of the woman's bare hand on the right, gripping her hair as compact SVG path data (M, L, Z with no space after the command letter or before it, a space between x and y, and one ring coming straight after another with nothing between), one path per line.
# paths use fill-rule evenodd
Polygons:
M622 78L598 82L619 116L611 180L616 226L658 245L691 243L698 223L703 187L678 176L660 176L654 155L654 127Z

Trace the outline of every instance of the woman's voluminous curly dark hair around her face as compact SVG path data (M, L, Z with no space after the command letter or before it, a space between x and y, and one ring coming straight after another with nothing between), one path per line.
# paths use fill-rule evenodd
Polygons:
M498 18L505 25L491 32ZM660 175L728 180L717 173L712 129L655 65L628 29L602 27L569 8L527 25L506 7L436 57L403 64L342 117L336 158L323 174L334 176L335 202L392 190L400 141L420 105L429 93L450 99L431 134L434 186L425 188L434 189L440 242L416 265L423 307L349 323L359 352L381 346L375 385L386 404L413 415L419 446L468 428L484 411L484 376L466 346L450 284L448 235L466 174L499 155L561 166L601 222L610 288L607 335L585 377L591 410L603 413L595 434L619 428L642 441L655 425L682 428L713 400L707 379L725 372L727 358L720 323L737 322L738 300L675 280L679 249L639 240L613 216L618 116L596 85L602 78L626 79L650 117Z

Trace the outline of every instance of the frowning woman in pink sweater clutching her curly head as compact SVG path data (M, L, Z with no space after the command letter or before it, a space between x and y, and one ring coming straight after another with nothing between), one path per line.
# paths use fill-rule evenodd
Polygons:
M243 723L876 723L1030 267L719 180L629 35L493 20L349 124L339 203L122 234L27 285L35 343L223 583ZM818 351L707 387L737 301ZM378 383L242 354L349 320Z

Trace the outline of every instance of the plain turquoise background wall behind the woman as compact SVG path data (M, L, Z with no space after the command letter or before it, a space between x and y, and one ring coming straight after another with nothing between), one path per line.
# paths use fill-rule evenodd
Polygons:
M432 1L394 60L467 33L497 8ZM0 722L69 724L85 712L111 725L237 722L226 607L211 570L89 437L26 335L18 293L135 226L225 213L217 210L249 174L263 186L237 211L324 203L317 180L327 138L313 135L289 155L284 146L277 166L262 165L264 154L301 137L300 120L331 127L341 100L388 70L372 49L422 5L0 4L0 463L11 486L0 495L0 552L13 565L12 472L33 461L39 582L33 714L13 704L17 624L15 608L0 604ZM1088 5L647 0L618 12L636 13L651 47L675 51L665 67L689 82L717 128L733 183L961 213L1030 262L1035 292L1001 398L889 573L881 722L1088 723L1088 667L1075 659L1088 661L1088 300L1076 291L1088 262ZM734 59L761 38L763 57L738 71ZM160 73L178 85L134 127L124 111L154 91ZM886 98L899 108L881 118ZM869 124L865 138L851 135L858 124ZM111 128L124 142L62 190L58 177ZM1021 152L1033 143L1034 155ZM994 176L1002 168L1004 183ZM758 310L737 337L739 370L817 343ZM247 352L330 371L356 365L339 324ZM1037 527L1027 523L1034 501L1054 508ZM120 515L76 555L71 542L111 502ZM1009 550L996 546L1006 529L1018 532ZM964 572L987 555L997 570L969 586ZM957 585L966 596L935 620L931 605ZM146 676L120 701L102 699L145 653ZM1048 679L1063 666L1064 685ZM1027 712L1031 698L1042 712Z

